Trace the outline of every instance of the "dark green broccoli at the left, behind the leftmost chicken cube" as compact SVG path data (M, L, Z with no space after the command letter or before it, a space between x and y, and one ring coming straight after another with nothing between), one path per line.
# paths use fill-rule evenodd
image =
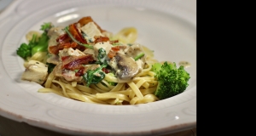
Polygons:
M16 50L16 54L18 54L21 58L26 59L27 57L31 57L33 54L37 52L45 52L48 48L49 37L47 36L47 32L49 28L52 27L51 23L44 23L41 26L41 31L44 31L41 37L39 37L38 41L37 35L32 35L32 40L26 43L21 43L20 47Z

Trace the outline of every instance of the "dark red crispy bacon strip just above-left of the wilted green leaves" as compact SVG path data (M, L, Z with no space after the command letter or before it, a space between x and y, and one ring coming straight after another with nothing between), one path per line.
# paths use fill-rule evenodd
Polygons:
M67 70L80 69L82 65L87 65L89 62L94 61L92 54L86 54L81 56L65 56L62 57L62 68Z

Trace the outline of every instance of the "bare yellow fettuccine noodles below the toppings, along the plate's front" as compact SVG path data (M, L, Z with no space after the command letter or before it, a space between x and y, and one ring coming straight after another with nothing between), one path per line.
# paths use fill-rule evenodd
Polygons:
M63 78L56 78L49 74L44 88L40 88L41 93L55 93L70 99L78 99L88 103L106 105L137 105L154 102L158 98L154 95L157 81L154 72L149 71L151 66L143 69L131 82L119 82L112 86L108 81L117 82L117 78L106 76L102 82L86 87L86 82L67 82ZM107 85L107 86L106 86Z

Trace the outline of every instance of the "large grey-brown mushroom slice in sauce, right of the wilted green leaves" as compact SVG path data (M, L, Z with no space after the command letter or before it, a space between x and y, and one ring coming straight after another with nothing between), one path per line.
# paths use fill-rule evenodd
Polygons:
M136 61L130 56L117 53L113 59L109 61L109 65L116 71L119 81L129 81L135 77L140 71Z

